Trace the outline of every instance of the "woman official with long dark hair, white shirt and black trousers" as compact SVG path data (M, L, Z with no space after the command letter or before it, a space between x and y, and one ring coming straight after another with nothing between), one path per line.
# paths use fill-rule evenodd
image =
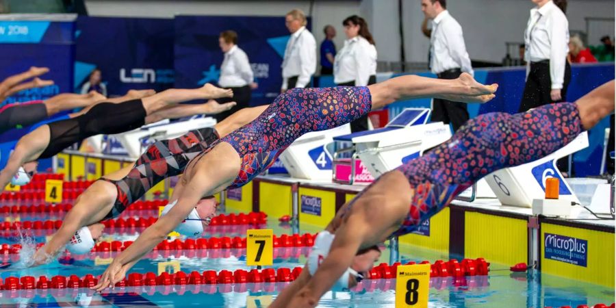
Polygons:
M376 84L376 47L368 23L357 15L342 22L347 40L334 60L334 82L338 86ZM368 115L351 123L351 131L368 130Z

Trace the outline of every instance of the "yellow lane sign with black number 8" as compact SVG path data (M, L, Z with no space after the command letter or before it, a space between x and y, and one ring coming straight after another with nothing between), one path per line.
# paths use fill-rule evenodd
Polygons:
M398 266L396 307L428 307L430 264Z

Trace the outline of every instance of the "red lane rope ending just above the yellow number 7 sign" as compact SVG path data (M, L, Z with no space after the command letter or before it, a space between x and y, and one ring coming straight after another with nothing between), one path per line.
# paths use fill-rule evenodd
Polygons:
M264 212L251 212L249 214L220 214L211 218L210 226L229 226L236 224L265 224L267 222L267 214ZM157 217L150 218L117 218L104 220L102 223L105 227L114 228L145 228L150 227L158 220ZM18 229L59 229L62 226L62 220L26 220L16 222L0 222L0 231L12 231Z

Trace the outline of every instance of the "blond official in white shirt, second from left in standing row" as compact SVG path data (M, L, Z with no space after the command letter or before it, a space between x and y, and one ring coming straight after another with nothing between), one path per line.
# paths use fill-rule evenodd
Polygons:
M306 16L301 10L292 10L285 16L285 25L291 33L282 64L281 92L310 86L316 71L316 40L306 29Z

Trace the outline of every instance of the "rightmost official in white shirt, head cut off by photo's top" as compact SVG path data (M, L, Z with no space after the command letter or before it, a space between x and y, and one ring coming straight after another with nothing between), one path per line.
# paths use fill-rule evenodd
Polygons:
M526 87L519 112L564 101L571 81L569 22L565 16L566 0L532 0L524 31L526 52Z

